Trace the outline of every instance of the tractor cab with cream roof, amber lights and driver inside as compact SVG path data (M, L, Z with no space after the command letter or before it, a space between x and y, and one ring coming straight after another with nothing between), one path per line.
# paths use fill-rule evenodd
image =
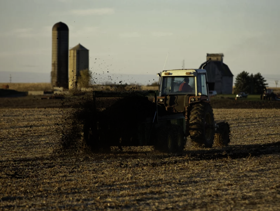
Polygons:
M204 69L164 70L160 76L157 103L167 111L184 112L191 103L210 101Z

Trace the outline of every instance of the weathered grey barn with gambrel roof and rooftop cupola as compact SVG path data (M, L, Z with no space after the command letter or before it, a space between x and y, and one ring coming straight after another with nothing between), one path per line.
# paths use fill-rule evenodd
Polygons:
M207 65L204 69L207 71L208 88L215 90L218 94L232 94L233 74L229 67L223 63L224 54L207 54ZM200 65L200 69L206 63Z

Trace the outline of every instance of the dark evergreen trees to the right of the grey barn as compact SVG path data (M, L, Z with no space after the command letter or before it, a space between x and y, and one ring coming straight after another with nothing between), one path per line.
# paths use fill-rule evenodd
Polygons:
M248 94L262 94L268 85L265 82L266 80L260 73L250 75L250 73L243 71L236 76L234 91L236 93L243 91Z

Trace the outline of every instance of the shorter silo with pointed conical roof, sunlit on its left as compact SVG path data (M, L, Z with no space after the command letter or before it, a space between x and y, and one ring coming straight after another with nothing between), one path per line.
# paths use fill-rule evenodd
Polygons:
M69 50L69 89L77 88L81 70L89 71L89 50L80 43Z

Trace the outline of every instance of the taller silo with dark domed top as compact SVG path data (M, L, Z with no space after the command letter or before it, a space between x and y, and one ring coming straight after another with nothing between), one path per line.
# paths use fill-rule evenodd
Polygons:
M52 30L52 73L53 87L68 88L69 29L65 23L54 24Z

